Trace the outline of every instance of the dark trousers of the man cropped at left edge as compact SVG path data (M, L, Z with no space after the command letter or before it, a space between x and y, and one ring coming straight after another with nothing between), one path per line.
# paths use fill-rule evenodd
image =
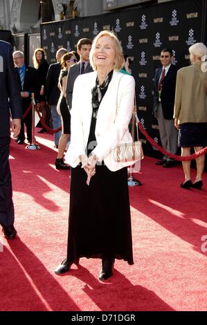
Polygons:
M9 165L10 137L0 137L0 224L13 225L12 179Z

